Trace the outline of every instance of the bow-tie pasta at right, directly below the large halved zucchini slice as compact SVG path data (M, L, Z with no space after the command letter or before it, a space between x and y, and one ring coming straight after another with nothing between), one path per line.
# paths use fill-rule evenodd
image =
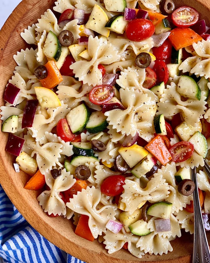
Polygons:
M201 100L186 99L182 101L182 96L177 90L177 85L171 82L171 85L167 85L164 93L161 96L160 102L157 103L158 114L164 114L165 116L173 116L176 113L181 113L184 120L192 126L203 118L205 113L205 96L201 93Z

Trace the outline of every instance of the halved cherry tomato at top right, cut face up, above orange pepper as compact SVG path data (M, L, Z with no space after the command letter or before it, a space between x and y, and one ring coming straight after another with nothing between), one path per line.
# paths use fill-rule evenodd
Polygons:
M198 21L198 18L198 12L189 6L179 7L171 15L172 22L177 27L190 27Z

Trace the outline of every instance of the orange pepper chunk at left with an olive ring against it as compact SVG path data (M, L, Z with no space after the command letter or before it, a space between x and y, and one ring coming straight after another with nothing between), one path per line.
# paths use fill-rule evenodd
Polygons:
M45 79L40 80L40 82L45 88L54 88L62 82L63 77L53 60L48 61L47 64L45 64L45 67L47 68L48 75Z

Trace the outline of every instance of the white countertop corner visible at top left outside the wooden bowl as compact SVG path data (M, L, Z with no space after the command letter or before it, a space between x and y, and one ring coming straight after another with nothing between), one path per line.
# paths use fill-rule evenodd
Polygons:
M22 0L0 0L0 29L7 20L8 16L12 13L12 11L21 1Z

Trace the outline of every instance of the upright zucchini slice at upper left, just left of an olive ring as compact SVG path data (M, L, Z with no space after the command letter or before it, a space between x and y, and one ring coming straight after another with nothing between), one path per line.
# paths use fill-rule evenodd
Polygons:
M51 30L47 34L47 38L43 46L43 52L46 57L54 59L56 61L58 61L60 58L61 44L56 34L54 34Z

